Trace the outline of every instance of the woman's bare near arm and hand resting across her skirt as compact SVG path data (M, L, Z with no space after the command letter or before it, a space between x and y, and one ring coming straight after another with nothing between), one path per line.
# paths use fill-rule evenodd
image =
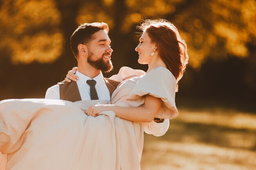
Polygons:
M134 122L151 122L163 101L160 98L146 95L145 104L143 107L121 107L114 105L95 105L90 106L85 113L88 116L97 116L102 111L114 111L116 116L122 119L134 121Z

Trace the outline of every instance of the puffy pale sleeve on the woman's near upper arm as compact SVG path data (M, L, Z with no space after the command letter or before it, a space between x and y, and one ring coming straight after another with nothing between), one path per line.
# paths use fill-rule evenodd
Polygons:
M145 95L161 98L163 105L157 118L172 119L178 115L175 105L176 79L166 68L159 67L146 73L131 90L127 101L132 107L135 102L144 103Z

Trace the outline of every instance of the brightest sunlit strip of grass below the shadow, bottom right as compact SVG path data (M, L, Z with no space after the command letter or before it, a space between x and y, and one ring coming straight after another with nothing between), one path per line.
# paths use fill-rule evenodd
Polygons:
M162 150L166 152L161 154ZM144 145L141 167L145 170L251 169L256 153L202 143L148 141Z

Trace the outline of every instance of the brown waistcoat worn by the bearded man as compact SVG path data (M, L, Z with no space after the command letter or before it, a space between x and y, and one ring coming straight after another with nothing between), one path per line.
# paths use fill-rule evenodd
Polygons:
M120 82L111 80L109 78L104 78L104 80L110 92L110 98L111 98L112 93L115 91L115 89L120 84ZM72 81L71 83L67 83L65 81L62 81L58 84L60 86L61 100L68 100L70 102L76 102L76 101L82 100L76 82Z

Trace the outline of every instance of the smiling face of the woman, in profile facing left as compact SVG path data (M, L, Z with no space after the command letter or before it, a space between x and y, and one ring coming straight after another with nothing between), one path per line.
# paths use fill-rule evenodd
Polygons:
M151 53L154 51L155 45L148 36L148 33L144 31L139 39L139 45L135 48L135 51L139 53L138 62L140 64L150 63L153 58Z

